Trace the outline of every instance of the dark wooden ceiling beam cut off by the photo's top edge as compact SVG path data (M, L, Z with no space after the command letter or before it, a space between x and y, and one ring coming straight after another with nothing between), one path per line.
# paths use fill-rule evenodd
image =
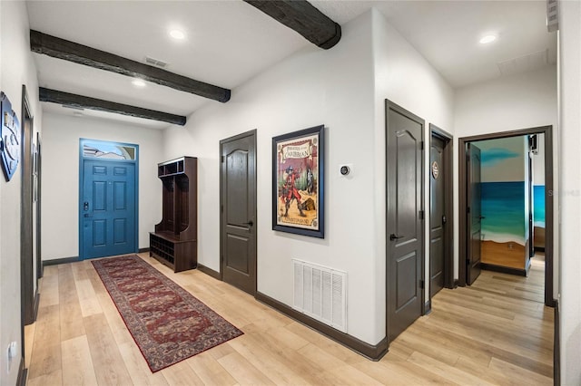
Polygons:
M305 0L244 0L325 50L339 43L341 26Z

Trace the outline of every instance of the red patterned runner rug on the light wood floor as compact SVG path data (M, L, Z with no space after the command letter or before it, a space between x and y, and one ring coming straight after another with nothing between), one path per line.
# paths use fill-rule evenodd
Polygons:
M139 256L92 263L152 372L242 334Z

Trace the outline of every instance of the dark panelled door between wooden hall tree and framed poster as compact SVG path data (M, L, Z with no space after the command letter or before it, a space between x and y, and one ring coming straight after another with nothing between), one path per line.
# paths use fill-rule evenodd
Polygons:
M256 293L256 131L220 142L222 280Z

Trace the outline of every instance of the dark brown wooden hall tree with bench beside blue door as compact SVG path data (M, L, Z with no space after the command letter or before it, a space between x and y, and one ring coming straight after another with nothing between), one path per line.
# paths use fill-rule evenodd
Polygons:
M162 222L150 232L150 256L173 272L198 265L198 159L182 157L157 165L162 180Z

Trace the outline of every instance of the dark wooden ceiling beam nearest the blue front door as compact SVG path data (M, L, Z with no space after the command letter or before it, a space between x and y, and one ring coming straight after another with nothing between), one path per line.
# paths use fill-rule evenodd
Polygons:
M103 101L101 99L72 94L69 92L59 92L56 90L45 89L44 87L38 88L38 99L40 101L49 101L52 103L62 104L67 107L113 112L130 117L162 121L180 126L185 125L186 121L186 118L182 115L143 109L141 107L130 106L128 104L117 103L114 101Z

